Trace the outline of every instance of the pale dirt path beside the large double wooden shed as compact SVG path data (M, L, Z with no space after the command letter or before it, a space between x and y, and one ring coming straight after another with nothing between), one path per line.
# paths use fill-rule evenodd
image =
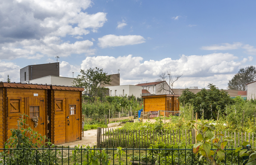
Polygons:
M109 127L109 129L116 129L121 126L116 126L116 127ZM71 143L65 143L62 146L64 147L70 147L74 148L75 146L94 146L97 145L97 129L96 130L89 130L89 131L83 131L84 137L82 137L82 140L71 142Z

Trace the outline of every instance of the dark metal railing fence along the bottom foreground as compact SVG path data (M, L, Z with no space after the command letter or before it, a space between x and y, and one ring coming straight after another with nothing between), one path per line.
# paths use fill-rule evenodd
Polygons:
M165 148L144 148L141 149L140 147L138 149L134 149L134 147L132 149L128 149L126 148L122 148L122 152L119 154L115 154L117 153L117 151L120 151L120 148L108 148L106 147L105 149L100 148L90 148L89 150L87 148L57 148L55 146L55 148L36 148L36 149L0 149L3 152L5 152L6 156L2 156L1 160L3 161L3 164L6 164L7 162L7 158L8 160L14 160L12 159L12 155L15 152L15 150L22 150L24 153L24 150L30 150L31 152L33 150L35 151L35 157L36 157L36 164L43 164L42 162L39 162L38 160L38 156L37 154L39 152L44 152L45 150L51 150L54 154L55 154L55 158L57 158L55 160L55 164L81 164L81 165L88 165L91 162L89 161L89 152L91 151L91 153L97 154L97 152L101 153L103 150L106 152L107 155L109 155L110 157L107 158L107 160L109 161L109 164L112 165L121 165L121 164L142 164L142 165L155 165L156 163L158 164L162 164L162 165L180 165L180 164L185 164L185 165L194 165L194 164L204 164L203 162L199 162L199 154L195 155L193 153L193 147L190 149L187 149L186 146L184 149L180 149L178 147L178 149L174 149L173 147L171 149L167 149L166 146ZM88 151L86 151L88 150ZM216 150L216 149L211 149L211 150ZM225 159L222 160L222 164L242 164L243 160L241 157L239 157L239 152L235 153L233 149L233 147L231 147L231 149L224 149L225 152ZM31 153L30 152L30 153ZM57 154L57 152L59 152ZM66 157L63 157L63 153L66 155ZM113 159L115 155L115 159ZM162 155L162 156L161 156ZM129 156L131 156L129 158ZM99 156L100 158L98 159L98 162L100 162L99 164L102 164L102 159L101 156ZM10 162L9 162L10 163ZM16 164L17 163L17 159L16 162L11 162L11 164Z

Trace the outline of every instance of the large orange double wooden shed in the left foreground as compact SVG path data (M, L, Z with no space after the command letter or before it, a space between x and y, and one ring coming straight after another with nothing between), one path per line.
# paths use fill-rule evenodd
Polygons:
M27 114L27 124L55 145L82 139L83 88L42 84L0 82L0 146L17 128L20 114ZM38 116L35 127L32 118ZM49 124L47 119L49 120Z

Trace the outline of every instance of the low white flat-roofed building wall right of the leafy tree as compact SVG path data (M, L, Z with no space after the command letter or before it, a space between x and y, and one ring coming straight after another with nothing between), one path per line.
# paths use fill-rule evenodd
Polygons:
M116 96L133 96L135 97L141 97L142 93L142 87L141 86L135 86L135 85L118 85L118 86L105 86L105 88L109 88L109 95L115 96L115 90L117 90ZM124 90L124 94L123 94Z

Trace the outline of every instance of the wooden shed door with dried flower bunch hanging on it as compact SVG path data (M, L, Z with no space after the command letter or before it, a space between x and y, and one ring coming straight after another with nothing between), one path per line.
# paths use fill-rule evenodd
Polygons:
M26 98L26 114L29 117L26 117L27 124L34 131L37 131L42 136L44 134L44 124L43 123L43 98L42 97L27 97ZM35 127L35 122L32 120L33 117L38 116L38 125Z

